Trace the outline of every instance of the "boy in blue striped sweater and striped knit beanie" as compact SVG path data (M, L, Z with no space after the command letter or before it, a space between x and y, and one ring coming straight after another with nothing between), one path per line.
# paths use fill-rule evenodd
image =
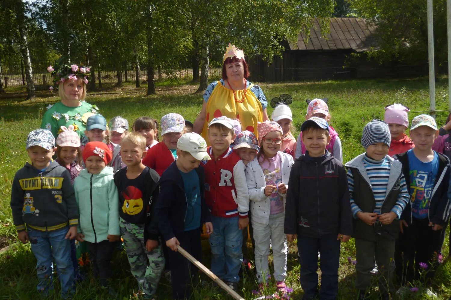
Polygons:
M381 299L393 293L395 241L399 219L409 193L399 161L388 156L390 130L387 123L373 120L365 125L362 145L366 152L345 164L351 210L354 217L355 248L359 299L364 299L371 286L371 271L376 259L381 273L378 280Z

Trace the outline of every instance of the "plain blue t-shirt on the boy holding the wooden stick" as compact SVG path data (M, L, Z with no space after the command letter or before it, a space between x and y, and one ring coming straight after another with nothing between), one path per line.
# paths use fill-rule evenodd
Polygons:
M191 170L188 173L180 171L180 175L182 175L187 201L185 231L188 231L200 227L201 203L199 176L196 170Z

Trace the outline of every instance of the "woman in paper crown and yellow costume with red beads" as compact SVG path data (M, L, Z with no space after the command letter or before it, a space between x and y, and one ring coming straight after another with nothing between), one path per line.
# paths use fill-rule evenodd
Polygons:
M203 94L202 110L194 121L194 132L207 141L208 123L218 116L238 119L243 130L257 133L257 122L269 120L267 100L262 89L247 81L249 70L243 50L226 47L222 63L222 79L208 85Z

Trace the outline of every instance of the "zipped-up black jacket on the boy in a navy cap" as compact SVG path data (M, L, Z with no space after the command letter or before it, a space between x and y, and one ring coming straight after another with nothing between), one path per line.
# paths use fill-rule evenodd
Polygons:
M286 234L336 237L352 234L346 170L327 152L300 156L291 167L285 204Z

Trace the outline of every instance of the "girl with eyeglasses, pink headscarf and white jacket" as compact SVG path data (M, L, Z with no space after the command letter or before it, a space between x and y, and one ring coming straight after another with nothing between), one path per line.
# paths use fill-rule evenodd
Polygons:
M255 239L255 269L259 291L269 285L268 255L270 245L274 257L274 281L280 297L287 297L287 243L284 233L285 197L293 157L281 152L283 130L275 121L258 123L261 151L246 166L253 237Z

